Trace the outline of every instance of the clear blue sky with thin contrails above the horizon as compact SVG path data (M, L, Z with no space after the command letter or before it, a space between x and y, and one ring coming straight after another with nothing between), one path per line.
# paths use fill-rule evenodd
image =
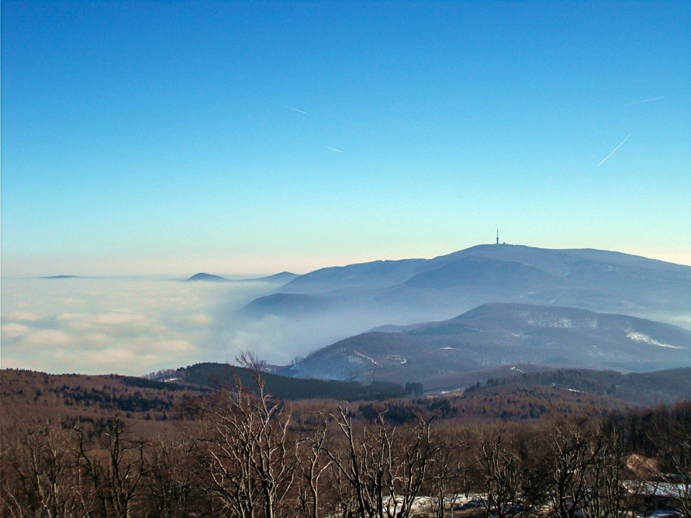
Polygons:
M3 0L1 30L3 276L305 273L498 227L691 265L687 0Z

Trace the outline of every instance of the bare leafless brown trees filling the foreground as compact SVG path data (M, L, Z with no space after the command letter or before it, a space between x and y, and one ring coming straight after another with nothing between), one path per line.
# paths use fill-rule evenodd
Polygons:
M240 363L249 383L188 399L187 419L160 436L118 416L3 423L0 515L444 518L478 495L488 518L614 518L652 510L656 483L691 516L691 403L472 426L417 414L394 425L386 403L360 416L345 402L297 414L265 390L254 356ZM649 472L627 467L634 453L654 459Z

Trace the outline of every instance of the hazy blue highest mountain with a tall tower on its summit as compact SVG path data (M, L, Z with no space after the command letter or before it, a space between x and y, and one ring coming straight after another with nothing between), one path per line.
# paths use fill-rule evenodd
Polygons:
M434 259L312 271L253 300L243 314L339 318L356 334L380 325L444 320L495 302L576 307L691 326L691 267L612 251L483 244Z

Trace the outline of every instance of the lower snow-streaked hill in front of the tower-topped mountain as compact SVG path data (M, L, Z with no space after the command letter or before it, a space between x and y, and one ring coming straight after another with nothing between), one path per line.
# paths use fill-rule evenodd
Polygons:
M691 331L573 307L491 303L401 332L351 336L277 374L431 385L519 363L634 372L690 367Z

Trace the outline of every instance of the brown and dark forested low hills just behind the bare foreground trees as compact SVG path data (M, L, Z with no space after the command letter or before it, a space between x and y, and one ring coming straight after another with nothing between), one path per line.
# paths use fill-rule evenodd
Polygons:
M523 366L524 367L524 366ZM287 401L305 401L300 408L323 405L326 399L361 403L352 405L356 415L372 410L372 399L386 399L390 423L414 419L415 412L442 419L463 417L480 421L495 419L539 419L559 414L598 414L632 405L658 405L691 399L691 368L645 374L614 371L542 370L485 379L464 391L420 398L417 387L397 383L318 381L285 378L265 373L267 391ZM163 421L188 419L192 401L212 397L212 390L224 382L234 385L233 373L252 387L249 374L227 364L200 363L173 371L167 383L145 378L45 374L26 370L0 371L0 419L22 416L30 419L55 418L65 423L104 421L113 415L129 422L149 423L158 430ZM170 373L169 373L170 374ZM410 383L409 385L415 385ZM406 397L408 396L408 397ZM202 398L201 400L199 398ZM395 399L392 399L395 398ZM319 399L323 401L309 401ZM359 410L357 410L359 408ZM4 422L4 421L3 421ZM153 427L153 428L151 428Z

